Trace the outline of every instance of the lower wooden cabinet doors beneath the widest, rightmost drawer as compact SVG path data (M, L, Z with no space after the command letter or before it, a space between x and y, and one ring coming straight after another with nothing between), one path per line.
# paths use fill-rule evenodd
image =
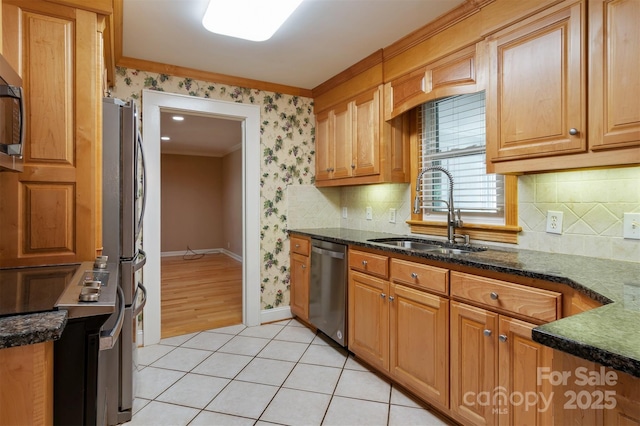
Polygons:
M529 324L451 301L451 413L473 425L553 424L553 350L531 340Z

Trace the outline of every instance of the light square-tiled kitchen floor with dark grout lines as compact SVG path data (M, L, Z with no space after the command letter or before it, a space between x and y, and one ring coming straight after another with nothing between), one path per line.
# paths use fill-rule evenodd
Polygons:
M127 425L446 425L296 320L140 348Z

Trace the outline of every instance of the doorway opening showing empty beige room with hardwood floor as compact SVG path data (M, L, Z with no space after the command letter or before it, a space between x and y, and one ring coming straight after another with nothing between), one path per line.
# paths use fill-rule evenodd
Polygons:
M160 110L161 338L242 323L242 122Z

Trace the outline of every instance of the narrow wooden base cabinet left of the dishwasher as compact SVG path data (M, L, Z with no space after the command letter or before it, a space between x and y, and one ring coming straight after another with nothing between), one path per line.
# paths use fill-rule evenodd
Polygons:
M309 270L311 241L307 237L291 237L291 272L289 297L291 313L303 321L309 320Z

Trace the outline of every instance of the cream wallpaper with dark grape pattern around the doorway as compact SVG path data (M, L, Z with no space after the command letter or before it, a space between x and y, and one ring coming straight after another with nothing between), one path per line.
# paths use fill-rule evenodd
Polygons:
M191 95L260 106L261 307L289 305L287 187L314 183L314 116L310 98L117 68L112 96L133 99L142 90ZM144 120L144 117L142 117ZM144 140L144 135L143 135Z

